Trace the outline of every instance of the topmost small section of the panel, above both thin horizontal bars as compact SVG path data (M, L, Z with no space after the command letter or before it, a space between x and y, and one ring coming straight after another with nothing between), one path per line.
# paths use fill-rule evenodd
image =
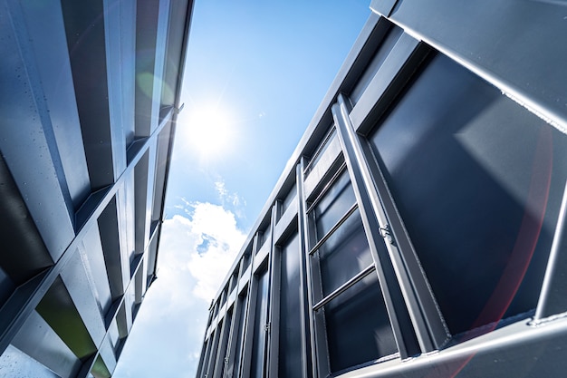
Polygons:
M356 202L349 173L345 170L314 208L317 240L320 240Z

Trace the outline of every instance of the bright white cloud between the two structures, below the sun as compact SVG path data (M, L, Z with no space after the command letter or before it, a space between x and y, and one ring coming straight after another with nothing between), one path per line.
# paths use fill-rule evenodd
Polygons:
M235 215L185 202L187 217L163 223L158 280L149 288L114 373L116 378L197 372L208 305L245 241ZM159 361L159 363L156 363Z

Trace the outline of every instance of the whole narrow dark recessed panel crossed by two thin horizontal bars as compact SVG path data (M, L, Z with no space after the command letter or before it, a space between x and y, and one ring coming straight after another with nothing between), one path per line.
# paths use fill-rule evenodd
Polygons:
M327 343L318 349L327 350L326 360L332 373L397 353L378 276L375 272L359 275L372 266L373 259L360 210L351 211L355 205L345 170L317 200L310 214L312 232L316 232L311 247L325 239L312 251L311 261L313 279L321 284L313 285L315 290L321 287L321 293L314 293L314 301L326 303L322 308L315 307L322 312L322 316L315 316L315 321L324 320L326 332L325 338L318 339ZM340 226L333 229L335 225ZM357 279L347 285L354 277ZM340 295L330 296L339 288L343 290Z

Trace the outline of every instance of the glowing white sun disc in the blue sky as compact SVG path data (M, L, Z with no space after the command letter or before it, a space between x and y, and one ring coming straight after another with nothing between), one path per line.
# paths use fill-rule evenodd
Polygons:
M207 160L226 158L235 139L234 116L220 106L195 106L188 114L185 138L189 148Z

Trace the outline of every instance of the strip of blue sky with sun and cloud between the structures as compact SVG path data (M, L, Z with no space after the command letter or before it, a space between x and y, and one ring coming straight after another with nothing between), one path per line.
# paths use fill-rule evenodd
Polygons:
M193 378L216 295L370 0L197 0L159 245L115 378Z

